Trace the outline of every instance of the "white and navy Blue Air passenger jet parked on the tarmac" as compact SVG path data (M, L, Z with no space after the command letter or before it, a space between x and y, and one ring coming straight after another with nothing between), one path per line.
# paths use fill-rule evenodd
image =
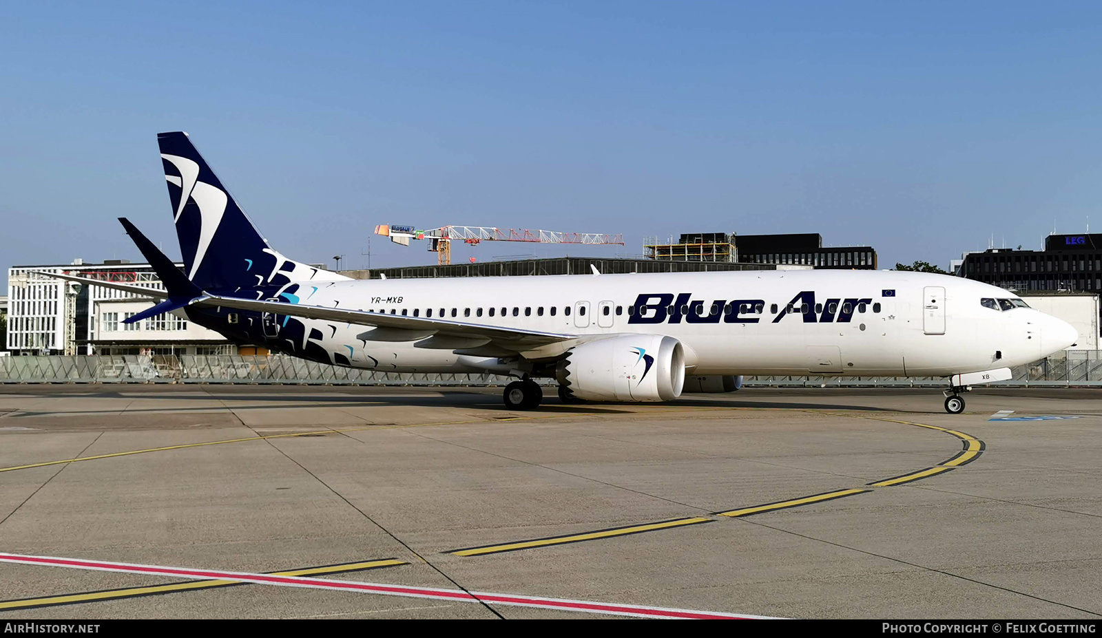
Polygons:
M158 141L184 270L120 219L165 286L95 281L163 299L125 323L184 313L234 342L324 364L510 375L511 409L539 405L536 378L557 379L572 402L670 401L737 389L743 375L938 376L959 413L969 386L1077 338L1012 292L920 272L353 280L271 248L187 133Z

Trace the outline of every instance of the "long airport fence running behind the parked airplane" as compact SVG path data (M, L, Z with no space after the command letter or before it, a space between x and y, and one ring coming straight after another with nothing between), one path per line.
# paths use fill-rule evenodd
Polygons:
M1102 350L1068 350L1013 368L1002 386L1102 386ZM283 356L100 355L0 357L0 383L306 383L504 386L491 374L386 372ZM542 379L544 385L554 385ZM746 386L942 387L940 377L746 377Z

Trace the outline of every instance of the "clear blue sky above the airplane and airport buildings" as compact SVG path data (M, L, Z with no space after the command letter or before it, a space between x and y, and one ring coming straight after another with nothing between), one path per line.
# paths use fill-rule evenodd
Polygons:
M1102 230L1099 2L149 2L0 10L0 277L179 256L155 133L269 240L376 224L808 233L883 268ZM434 255L371 240L372 266Z

